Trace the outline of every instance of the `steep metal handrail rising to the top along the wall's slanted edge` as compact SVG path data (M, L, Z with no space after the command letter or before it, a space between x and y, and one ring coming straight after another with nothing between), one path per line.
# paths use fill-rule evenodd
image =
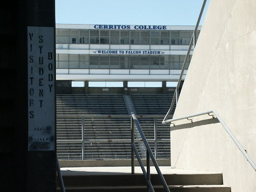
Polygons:
M192 36L192 38L191 38L191 40L190 40L189 48L188 48L188 50L187 50L187 54L186 54L185 60L184 60L184 62L183 62L183 67L182 67L182 71L181 71L181 74L180 74L180 77L179 77L179 81L178 81L178 84L177 84L176 89L175 89L175 91L174 91L174 94L173 94L174 96L172 97L172 100L171 100L171 106L170 106L168 112L166 113L166 115L165 115L165 117L164 117L164 119L163 119L163 121L162 121L163 124L165 123L166 119L169 117L169 115L170 115L170 113L171 113L171 110L172 110L172 108L173 108L173 106L174 106L175 100L176 100L176 103L178 102L178 99L179 99L179 93L178 93L178 91L179 91L179 88L180 88L180 86L181 86L181 81L182 81L182 78L183 78L183 73L184 73L184 71L185 71L186 63L187 63L188 57L189 57L189 55L190 55L190 51L191 51L192 45L194 44L194 47L195 47L195 33L196 33L196 31L197 31L197 28L198 28L198 26L199 26L199 23L200 23L202 14L203 14L203 12L204 12L206 2L207 2L207 0L204 0L203 5L202 5L202 8L201 8L201 11L200 11L200 14L199 14L199 17L198 17L198 19L197 19L197 22L196 22L196 25L195 25L195 30L194 30L194 32L193 32L193 36Z

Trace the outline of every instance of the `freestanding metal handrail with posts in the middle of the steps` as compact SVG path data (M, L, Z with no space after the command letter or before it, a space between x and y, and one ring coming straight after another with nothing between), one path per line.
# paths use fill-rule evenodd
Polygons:
M154 166L155 166L155 168L158 172L158 176L160 177L160 180L163 184L163 187L164 187L165 191L170 192L169 187L168 187L168 185L167 185L167 183L166 183L166 181L165 181L165 179L164 179L164 177L161 173L161 170L158 166L158 163L157 163L157 161L156 161L156 159L155 159L155 157L152 153L152 150L151 150L149 144L147 143L146 137L145 137L145 135L144 135L144 133L141 129L139 121L137 120L137 118L136 118L136 116L133 112L131 113L131 122L132 122L131 123L132 124L132 126L131 126L131 134L132 134L132 141L131 141L131 143L132 143L131 144L131 146L132 146L132 174L134 174L134 159L135 159L134 158L134 153L135 153L135 155L137 157L137 160L139 161L140 167L142 169L143 175L146 179L148 191L155 192L154 189L153 189L152 183L150 181L150 157L151 157L152 162L153 162L153 164L154 164ZM142 163L142 160L139 156L139 153L138 153L138 151L136 149L136 146L135 146L135 143L134 143L134 140L135 140L134 139L134 124L136 125L136 127L137 127L137 129L140 133L140 136L141 136L141 138L142 138L142 140L143 140L143 142L146 146L146 170L144 168L144 165Z

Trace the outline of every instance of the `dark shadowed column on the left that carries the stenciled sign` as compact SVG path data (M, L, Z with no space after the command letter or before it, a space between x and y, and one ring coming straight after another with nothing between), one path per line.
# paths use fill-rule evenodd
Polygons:
M28 26L34 26L51 27L53 45L55 46L55 1L4 1L4 5L0 6L0 12L2 13L0 108L4 114L0 119L0 156L1 160L3 160L1 161L1 168L3 168L1 174L4 178L0 181L0 191L54 192L56 191L56 132L51 129L54 135L51 138L53 143L51 150L47 150L47 147L45 148L46 150L29 150L28 146L30 112L28 86L33 79L29 79L28 76L29 58L27 45L29 40ZM32 38L40 40L39 36L33 36ZM47 38L47 36L43 38ZM34 47L31 47L31 49L34 51ZM37 49L40 51L38 46ZM41 50L44 51L44 48L41 48ZM50 74L49 79L38 79L37 82L33 82L33 84L38 84L37 89L39 86L48 85L51 82L52 93L54 93L55 87L55 47L53 50L50 53L53 56L51 58L50 71L54 72L49 73L48 68L45 66L44 69L40 70L40 75L48 72ZM36 60L38 58L33 59ZM49 60L44 58L44 61L44 64L46 64ZM39 69L33 70L35 70L33 72L38 72ZM44 91L45 94L46 90ZM35 92L35 94L38 94L38 92ZM43 94L43 91L41 91L41 94ZM43 105L43 101L40 102ZM53 103L55 104L55 99ZM32 100L30 106L33 106ZM53 112L55 113L55 110ZM31 114L33 113L31 112ZM55 119L55 114L53 118ZM55 120L53 121L53 124L55 124ZM34 138L32 141L35 141L35 139L39 140L40 138ZM41 143L39 141L36 143L37 147L40 148Z

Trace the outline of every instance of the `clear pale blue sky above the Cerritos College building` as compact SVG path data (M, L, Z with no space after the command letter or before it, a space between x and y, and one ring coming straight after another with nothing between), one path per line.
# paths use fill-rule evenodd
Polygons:
M195 25L202 3L203 0L56 0L56 23Z

